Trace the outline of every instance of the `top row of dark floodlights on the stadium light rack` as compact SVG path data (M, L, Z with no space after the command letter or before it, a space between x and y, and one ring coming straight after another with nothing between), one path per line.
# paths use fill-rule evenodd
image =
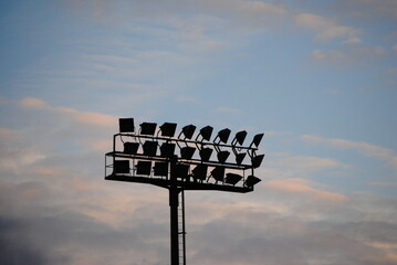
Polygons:
M143 123L140 124L139 135L147 135L147 136L154 136L156 134L157 124L155 123ZM159 126L159 130L157 131L157 136L161 132L163 137L174 137L175 131L177 129L177 124L173 123L164 123L161 126ZM206 126L200 129L199 134L196 136L196 141L209 141L211 139L213 128L211 126ZM195 135L196 126L195 125L187 125L185 126L180 134L178 135L178 138L181 140L191 139ZM134 125L134 118L119 118L119 132L135 132L135 125ZM199 139L201 136L201 139ZM227 144L230 136L230 129L226 128L218 132L217 137L213 139L215 144ZM184 138L182 138L184 137ZM244 142L247 137L247 131L241 130L236 134L233 140L231 141L232 146L236 146L239 144L240 146ZM261 142L263 138L263 134L258 134L253 137L253 140L250 145L250 148L252 146L259 147L259 144Z

